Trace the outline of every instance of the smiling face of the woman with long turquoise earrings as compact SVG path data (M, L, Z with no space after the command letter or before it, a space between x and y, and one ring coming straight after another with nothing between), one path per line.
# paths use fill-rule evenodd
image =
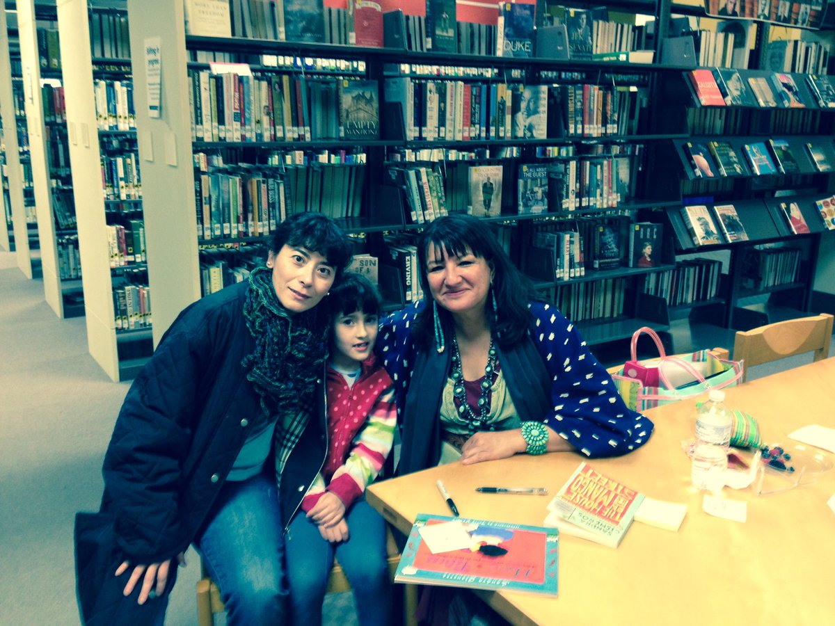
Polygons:
M427 251L427 279L433 298L451 313L484 310L493 280L493 270L483 257L463 250L463 255L448 255L430 245Z

